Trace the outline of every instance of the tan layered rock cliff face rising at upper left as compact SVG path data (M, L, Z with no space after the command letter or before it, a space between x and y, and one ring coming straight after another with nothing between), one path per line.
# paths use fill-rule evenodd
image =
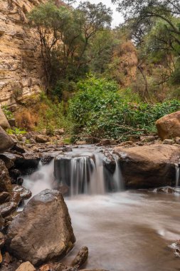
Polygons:
M0 103L16 105L43 88L38 36L26 14L46 0L0 0Z

